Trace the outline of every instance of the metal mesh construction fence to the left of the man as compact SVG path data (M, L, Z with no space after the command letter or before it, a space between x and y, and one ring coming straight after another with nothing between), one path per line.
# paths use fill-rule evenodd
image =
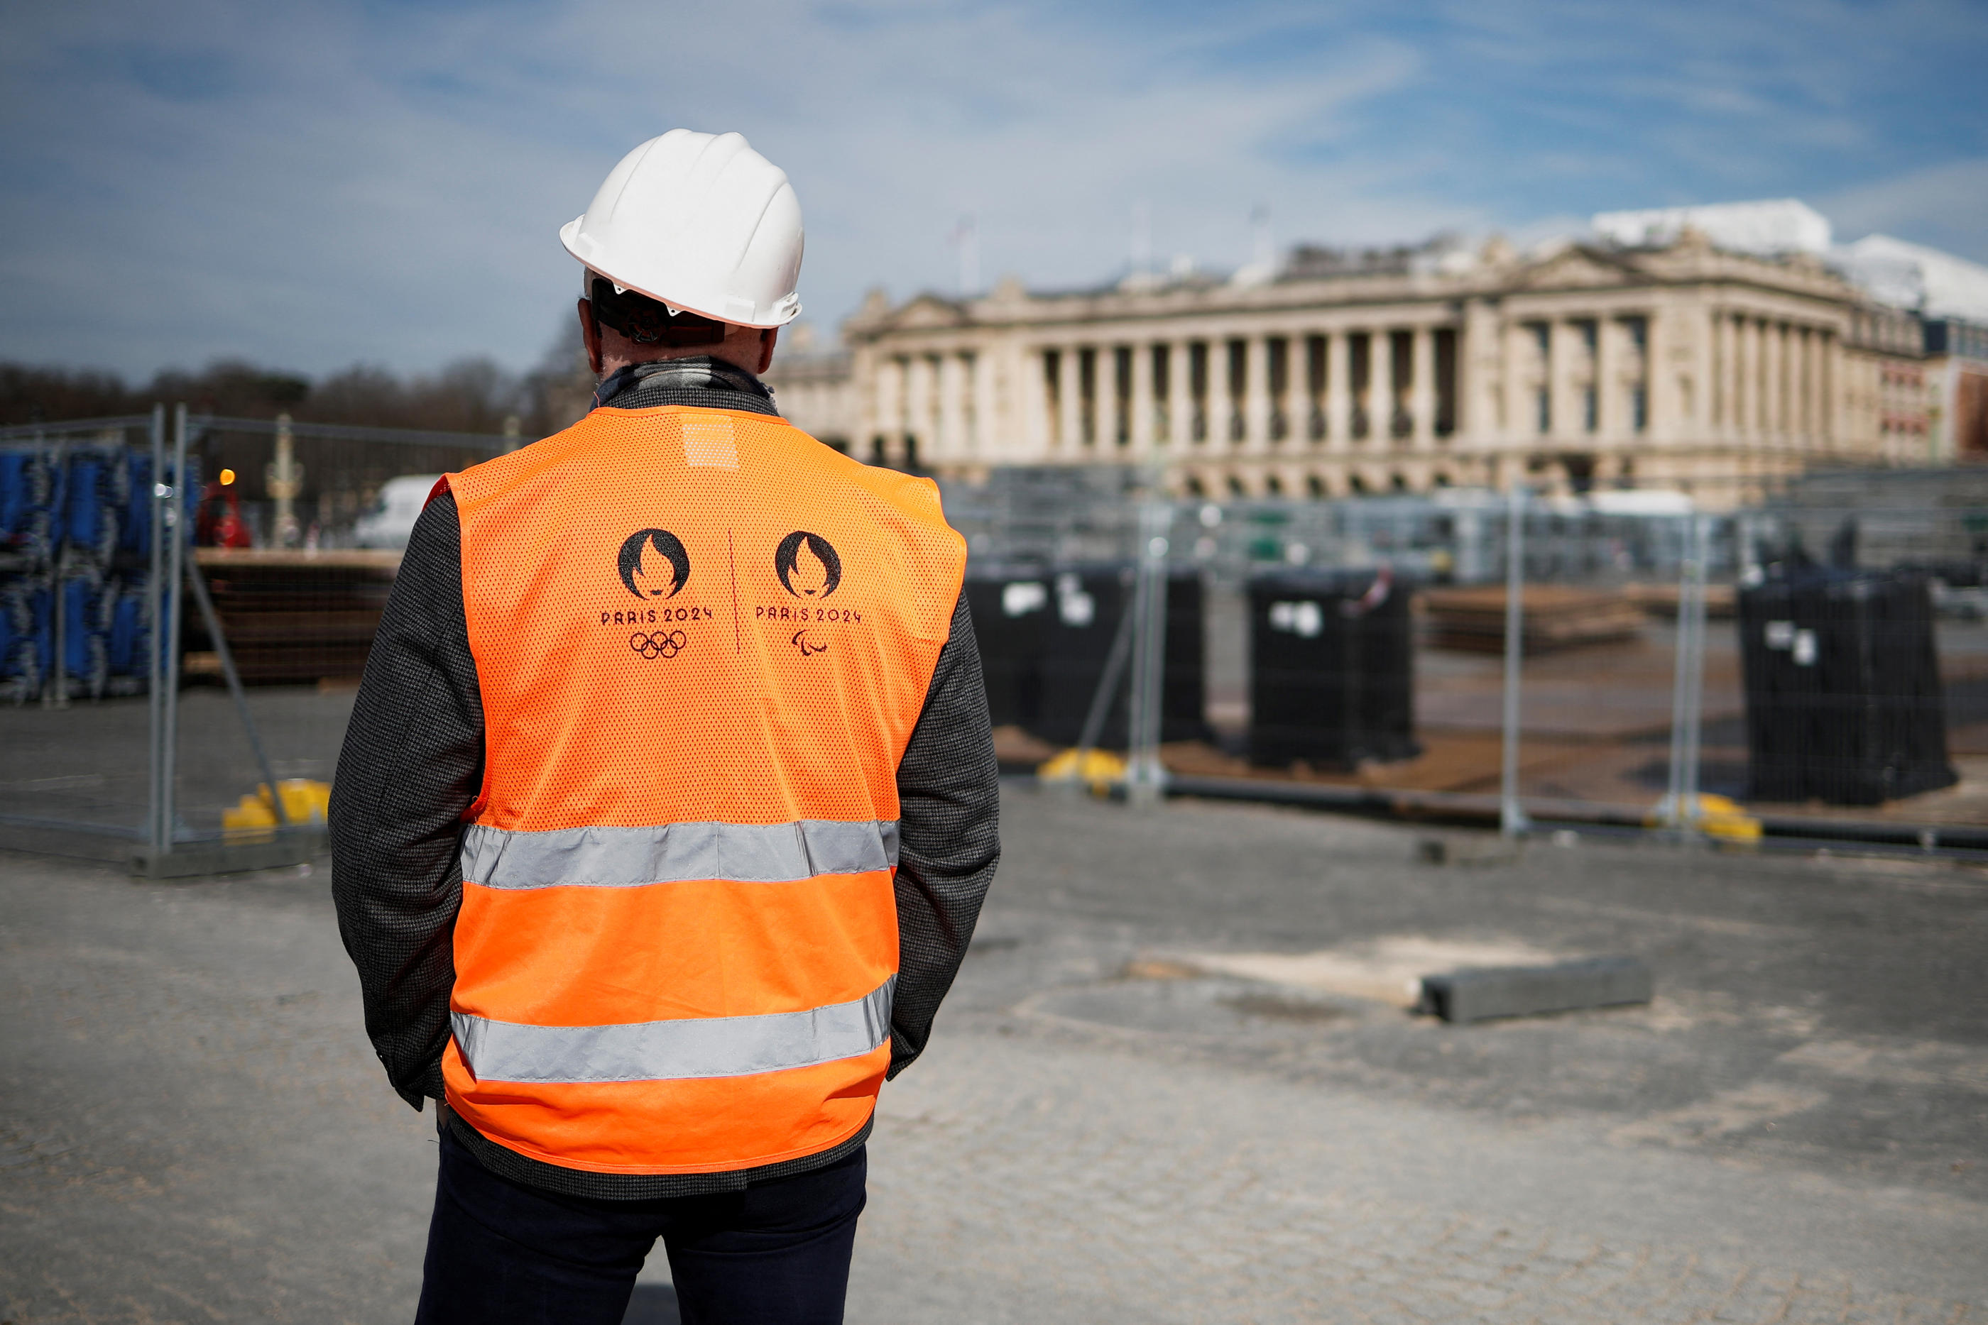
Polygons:
M0 429L6 840L306 860L427 485L517 445L185 405Z

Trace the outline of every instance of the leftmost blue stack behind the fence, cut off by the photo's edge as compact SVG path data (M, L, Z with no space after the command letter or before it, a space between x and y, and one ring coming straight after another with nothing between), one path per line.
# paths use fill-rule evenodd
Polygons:
M40 695L56 662L50 584L62 487L50 447L0 449L0 701Z

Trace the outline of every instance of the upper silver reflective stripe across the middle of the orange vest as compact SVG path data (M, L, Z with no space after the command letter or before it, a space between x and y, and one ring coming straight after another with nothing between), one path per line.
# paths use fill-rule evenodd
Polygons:
M511 832L469 824L463 880L485 888L632 888L722 878L777 884L897 866L897 824L660 824Z

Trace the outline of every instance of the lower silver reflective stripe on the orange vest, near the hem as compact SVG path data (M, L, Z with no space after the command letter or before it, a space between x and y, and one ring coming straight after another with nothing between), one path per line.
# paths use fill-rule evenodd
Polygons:
M897 977L851 1003L799 1013L517 1025L453 1013L455 1045L477 1081L684 1081L746 1077L853 1059L891 1037Z

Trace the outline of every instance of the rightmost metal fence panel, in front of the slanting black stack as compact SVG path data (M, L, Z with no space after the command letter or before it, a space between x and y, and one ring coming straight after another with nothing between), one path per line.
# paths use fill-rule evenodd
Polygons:
M1789 836L1988 848L1988 475L1825 477L1740 524L1708 791Z

